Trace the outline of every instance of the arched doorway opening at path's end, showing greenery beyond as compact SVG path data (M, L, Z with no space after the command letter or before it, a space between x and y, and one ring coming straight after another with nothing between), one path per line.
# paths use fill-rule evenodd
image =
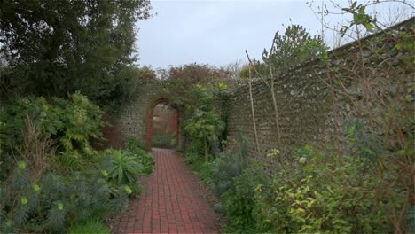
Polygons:
M176 148L179 144L179 112L168 99L154 102L148 118L148 138L150 147Z

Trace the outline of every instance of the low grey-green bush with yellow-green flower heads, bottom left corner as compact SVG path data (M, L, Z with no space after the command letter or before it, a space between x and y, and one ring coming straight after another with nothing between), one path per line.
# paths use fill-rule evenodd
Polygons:
M99 170L91 175L48 172L39 183L32 183L27 163L20 161L11 179L0 186L0 232L62 232L69 223L121 212L128 191L112 190L105 175Z

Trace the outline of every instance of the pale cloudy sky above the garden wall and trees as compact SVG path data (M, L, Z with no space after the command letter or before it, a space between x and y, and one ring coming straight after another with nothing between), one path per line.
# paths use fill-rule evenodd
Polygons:
M333 2L347 4L346 0ZM317 11L320 4L315 0L313 9ZM325 4L332 5L329 0ZM246 61L245 50L261 58L275 32L284 32L282 24L290 25L290 19L312 35L321 31L317 16L301 0L153 0L152 5L153 18L137 25L140 66L168 68L194 62L226 66ZM411 15L411 9L403 4L376 7L390 18ZM325 18L332 25L347 20L343 15ZM333 33L326 32L326 36L328 44L333 44Z

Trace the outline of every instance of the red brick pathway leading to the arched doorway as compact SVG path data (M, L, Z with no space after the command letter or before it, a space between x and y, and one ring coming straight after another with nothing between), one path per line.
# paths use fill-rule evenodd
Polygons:
M154 149L156 170L144 178L145 190L129 203L114 233L217 233L215 213L203 197L199 180L182 158Z

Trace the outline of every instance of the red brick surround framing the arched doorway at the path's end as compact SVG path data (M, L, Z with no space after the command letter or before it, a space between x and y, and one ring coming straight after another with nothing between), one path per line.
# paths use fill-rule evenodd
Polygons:
M168 98L156 98L147 107L146 116L145 116L145 129L146 133L143 137L143 142L145 146L149 149L153 146L153 115L154 109L157 105L167 103L171 105L171 102ZM180 111L175 105L171 105L173 109L176 111L176 143L177 148L181 148L181 140L180 140Z

